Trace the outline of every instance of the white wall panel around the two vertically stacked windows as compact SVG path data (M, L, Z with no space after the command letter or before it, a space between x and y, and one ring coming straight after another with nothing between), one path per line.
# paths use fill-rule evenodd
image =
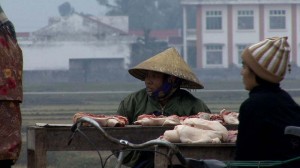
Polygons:
M222 44L223 45L223 65L221 67L228 67L228 56L227 56L227 7L224 5L203 5L202 8L202 59L204 68L220 68L218 65L207 65L206 64L206 45L208 44ZM207 11L222 11L222 30L206 30L206 12Z

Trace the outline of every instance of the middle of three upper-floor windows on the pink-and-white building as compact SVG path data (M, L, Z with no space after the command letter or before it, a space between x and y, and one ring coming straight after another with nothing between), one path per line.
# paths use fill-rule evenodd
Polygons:
M254 29L254 17L252 10L238 11L238 29L249 30Z

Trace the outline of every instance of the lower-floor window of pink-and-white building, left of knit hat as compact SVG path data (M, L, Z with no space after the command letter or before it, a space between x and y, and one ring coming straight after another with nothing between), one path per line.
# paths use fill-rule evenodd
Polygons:
M206 46L206 64L221 65L223 63L223 46L220 44L211 44Z

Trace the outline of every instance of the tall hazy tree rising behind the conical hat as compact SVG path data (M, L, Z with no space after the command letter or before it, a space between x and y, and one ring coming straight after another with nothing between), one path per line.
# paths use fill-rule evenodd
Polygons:
M152 30L175 29L182 26L182 10L179 0L97 0L109 10L106 15L129 17L129 29L143 30L144 37L132 44L131 65L163 51L166 42L150 38Z

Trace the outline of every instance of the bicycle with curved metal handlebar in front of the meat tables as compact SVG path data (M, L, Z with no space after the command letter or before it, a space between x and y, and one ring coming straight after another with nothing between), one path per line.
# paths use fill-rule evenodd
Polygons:
M214 159L195 160L195 159L192 159L192 158L184 157L182 155L182 153L179 151L179 149L177 148L177 146L173 143L168 142L168 141L153 139L153 140L141 143L141 144L134 144L134 143L131 143L127 140L116 139L116 138L110 136L109 134L107 134L106 131L98 124L98 122L96 122L95 120L93 120L91 118L88 118L88 117L80 118L72 126L71 131L73 132L73 134L71 135L68 144L71 143L71 141L72 141L72 139L73 139L76 132L81 132L80 127L82 126L83 122L91 124L107 140L109 140L109 141L111 141L115 144L120 145L122 147L122 149L135 150L135 149L145 149L145 148L156 146L156 145L165 146L168 149L170 149L170 151L171 151L170 154L168 155L169 160L171 160L171 158L175 154L175 156L180 161L180 164L183 167L186 167L186 168L226 168L226 167L236 167L236 166L238 166L238 167L276 167L276 166L281 166L281 165L284 165L284 164L287 164L287 163L290 163L290 162L293 162L293 161L300 160L300 156L296 157L296 158L289 159L289 160L285 160L285 161L229 161L229 162L222 162L222 161L214 160ZM290 134L290 135L294 135L296 137L300 137L300 127L288 126L285 129L285 134ZM86 137L86 138L88 139L88 137ZM121 150L121 152L119 153L118 161L117 161L117 164L116 164L115 168L121 168L123 159L124 159L124 153Z

